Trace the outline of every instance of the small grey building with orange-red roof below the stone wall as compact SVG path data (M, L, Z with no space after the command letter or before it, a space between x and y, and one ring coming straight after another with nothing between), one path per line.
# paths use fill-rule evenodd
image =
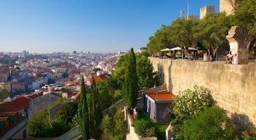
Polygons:
M166 123L170 121L170 103L175 97L167 90L150 91L143 93L144 111L154 123Z

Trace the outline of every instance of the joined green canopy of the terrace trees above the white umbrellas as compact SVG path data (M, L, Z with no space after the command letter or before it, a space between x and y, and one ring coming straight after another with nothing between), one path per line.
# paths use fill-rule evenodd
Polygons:
M162 26L149 37L147 51L153 54L167 47L197 46L206 48L211 61L215 61L218 48L228 47L225 36L231 26L233 20L224 13L207 15L202 20L177 18L170 26Z

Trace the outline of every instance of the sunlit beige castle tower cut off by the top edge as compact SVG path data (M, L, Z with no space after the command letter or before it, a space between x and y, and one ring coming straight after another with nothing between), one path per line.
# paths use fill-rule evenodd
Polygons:
M235 0L219 0L219 12L226 12L227 15L232 15L235 12Z

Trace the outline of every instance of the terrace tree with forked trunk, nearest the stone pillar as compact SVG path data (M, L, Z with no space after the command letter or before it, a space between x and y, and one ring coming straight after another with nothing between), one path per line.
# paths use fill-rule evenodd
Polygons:
M219 13L206 15L196 26L195 39L207 48L209 61L215 61L219 47L227 48L226 36L231 25L231 18Z

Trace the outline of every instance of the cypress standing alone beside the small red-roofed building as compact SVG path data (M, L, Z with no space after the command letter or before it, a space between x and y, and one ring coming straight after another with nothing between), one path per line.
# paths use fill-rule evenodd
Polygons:
M123 82L124 101L128 109L132 110L137 104L138 96L138 75L136 71L136 56L133 48L127 55L127 71L124 74Z

